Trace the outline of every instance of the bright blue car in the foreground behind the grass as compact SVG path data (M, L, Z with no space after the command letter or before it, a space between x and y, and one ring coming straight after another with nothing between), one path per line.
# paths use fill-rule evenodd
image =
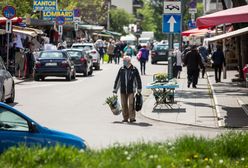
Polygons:
M28 147L62 145L86 149L86 142L83 139L45 128L13 107L0 102L0 153L18 145Z

